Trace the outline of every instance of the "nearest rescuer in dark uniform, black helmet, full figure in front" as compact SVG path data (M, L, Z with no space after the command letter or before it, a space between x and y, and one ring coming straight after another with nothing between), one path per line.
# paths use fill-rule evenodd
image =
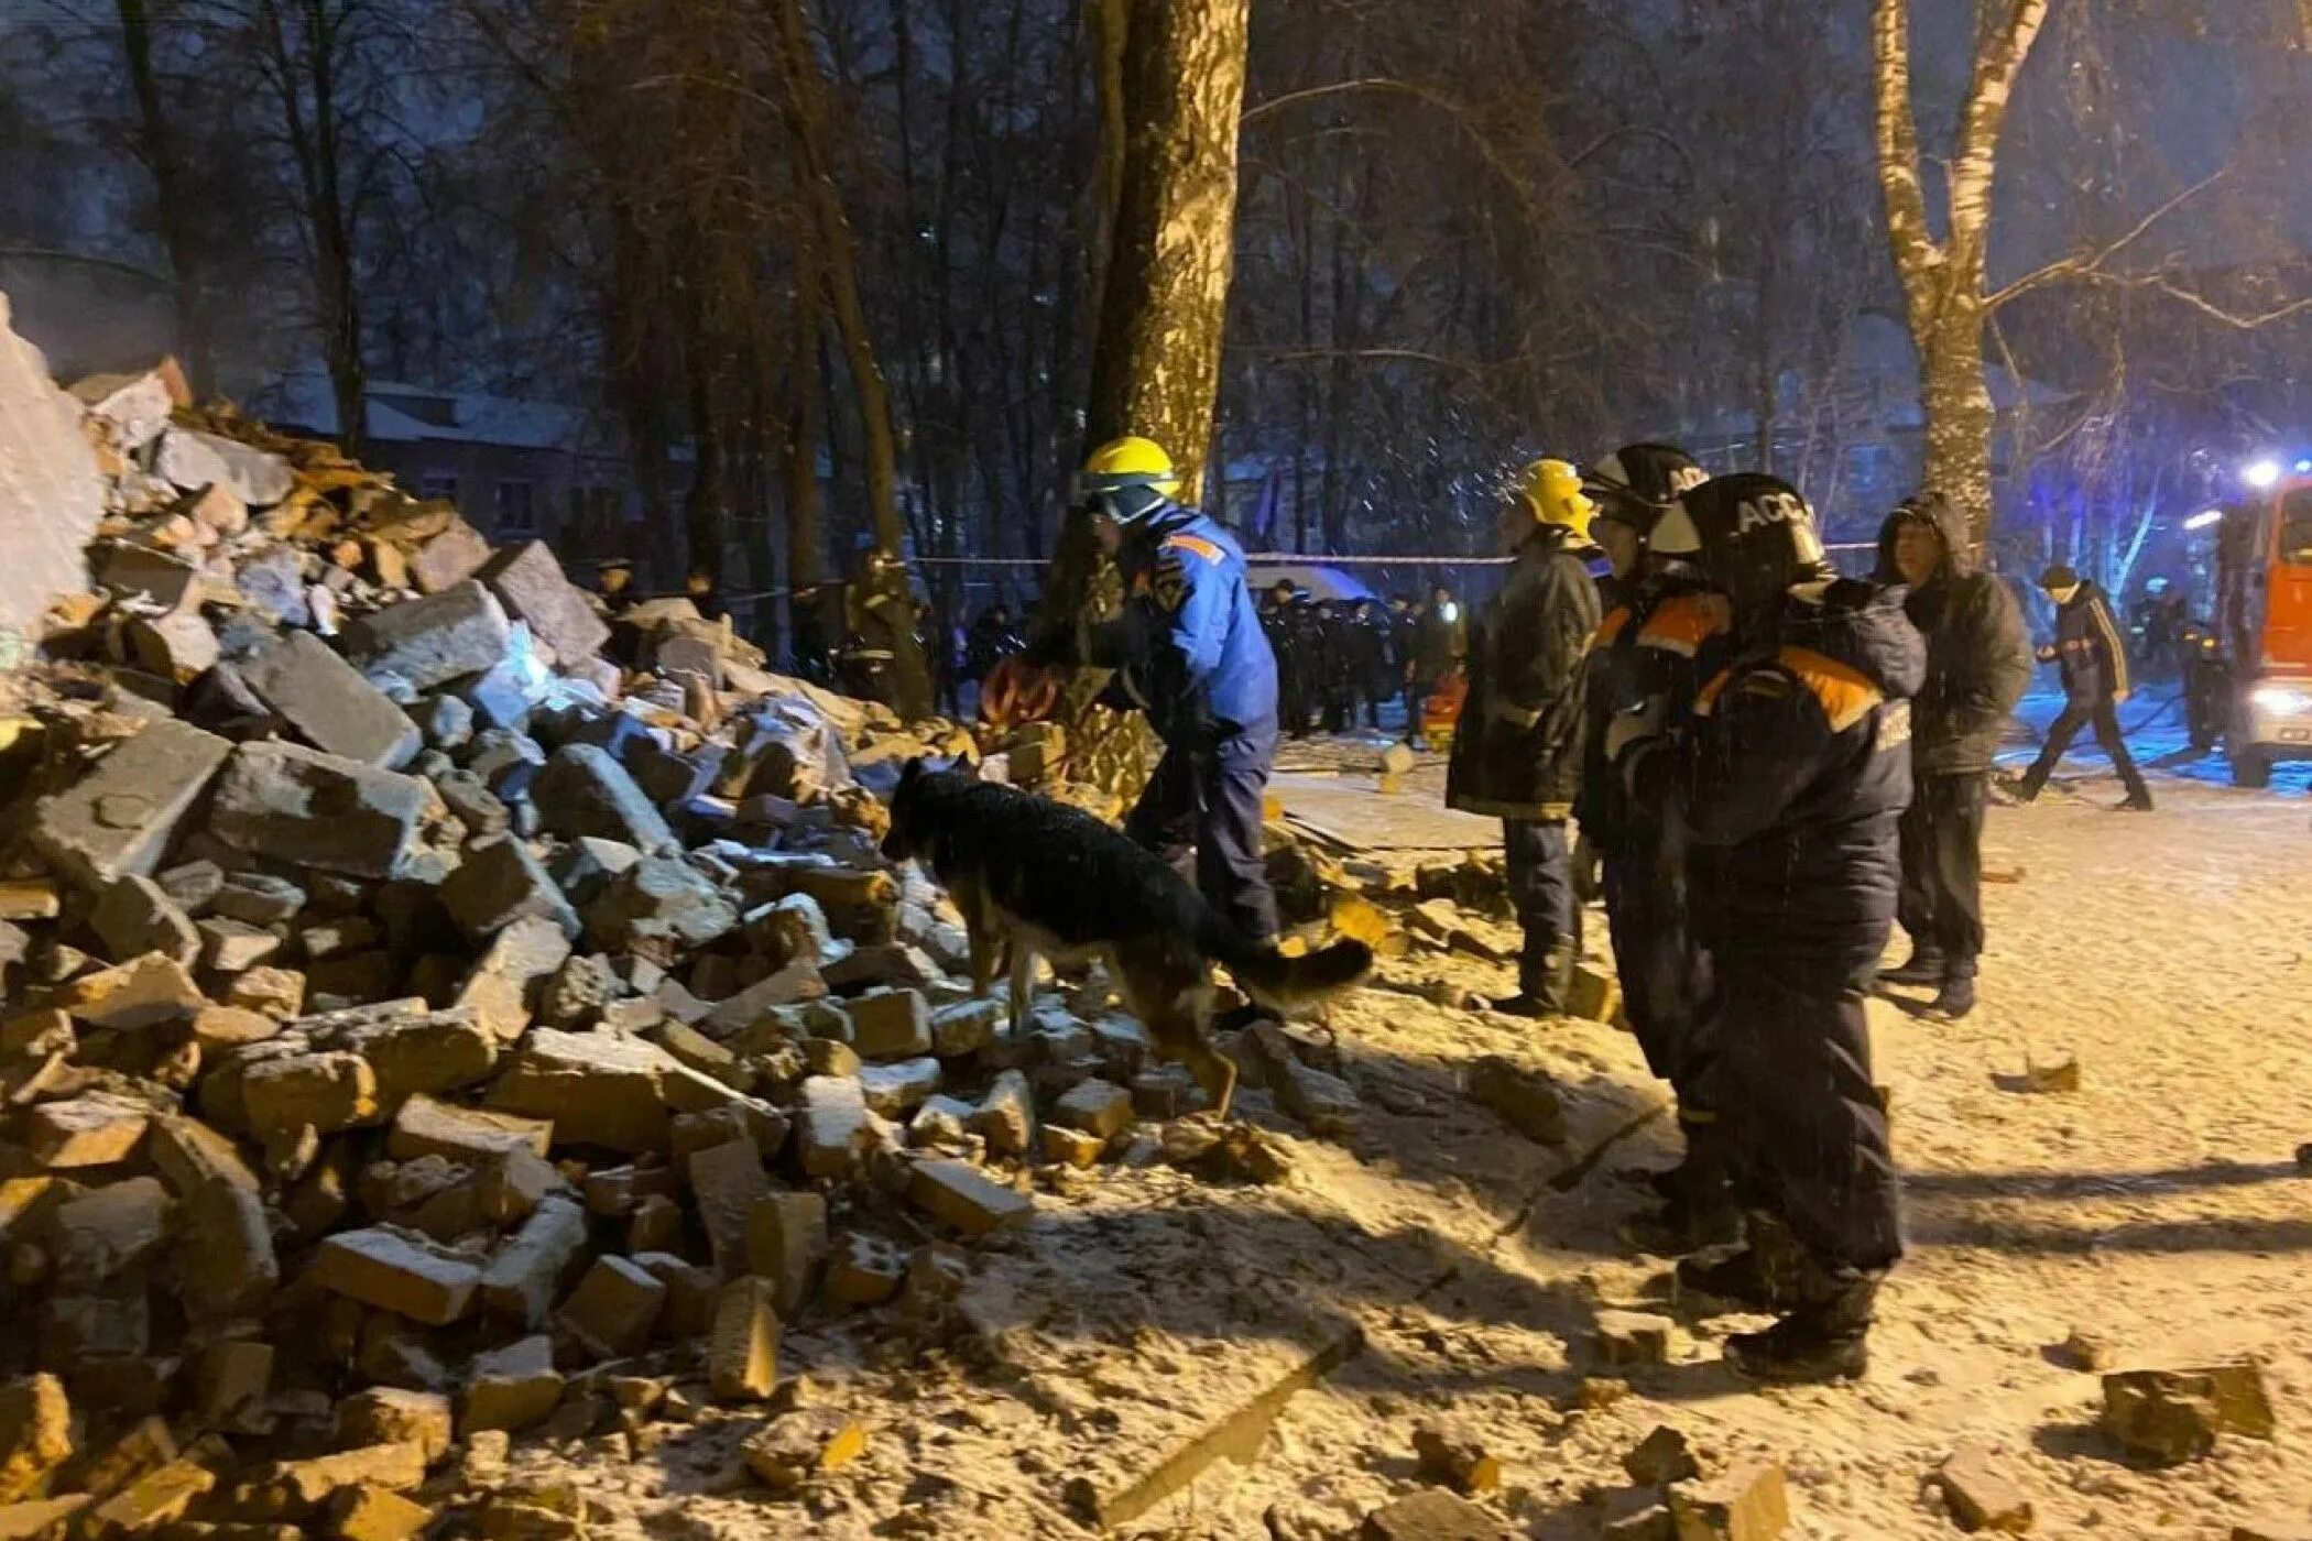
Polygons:
M1674 818L1692 843L1711 1104L1750 1211L1741 1252L1688 1257L1679 1280L1778 1315L1727 1338L1734 1370L1845 1379L1868 1363L1877 1289L1903 1257L1863 998L1894 924L1926 645L1900 591L1833 573L1789 483L1720 476L1679 501L1725 596L1732 663L1688 730L1630 739L1616 772L1639 818Z

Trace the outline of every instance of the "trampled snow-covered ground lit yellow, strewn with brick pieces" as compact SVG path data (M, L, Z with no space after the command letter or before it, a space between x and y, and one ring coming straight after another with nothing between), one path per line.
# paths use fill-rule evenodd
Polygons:
M1279 797L1390 862L1491 843L1484 820L1438 809L1440 755L1378 792L1383 742L1290 744ZM2250 1518L2303 1523L2312 1178L2294 1148L2312 1139L2312 832L2296 797L2155 786L2157 813L2111 813L2115 783L2081 755L2039 804L1995 809L1981 1010L1933 1026L1873 1007L1912 1255L1857 1386L1743 1389L1718 1363L1739 1319L1681 1324L1669 1365L1600 1372L1595 1312L1660 1301L1665 1264L1616 1236L1639 1204L1628 1171L1669 1157L1660 1088L1598 1023L1438 1005L1505 991L1507 970L1415 952L1332 1017L1366 1104L1357 1139L1309 1139L1239 1093L1297 1155L1283 1188L1105 1164L1045 1183L1029 1234L980 1255L1003 1308L976 1340L798 1324L788 1354L812 1382L795 1400L872 1430L867 1458L805 1509L765 1506L733 1474L744 1423L701 1423L633 1462L539 1451L527 1474L578 1483L615 1536L1089 1534L1070 1483L1161 1490L1168 1462L1205 1449L1198 1430L1320 1356L1341 1363L1272 1428L1230 1428L1242 1465L1218 1460L1114 1534L1355 1536L1417 1486L1413 1428L1438 1416L1503 1460L1491 1506L1512 1534L1556 1541L1598 1534L1588 1490L1618 1486L1621 1453L1660 1423L1711 1465L1785 1462L1787 1534L1820 1541L1954 1534L1924 1479L1958 1442L2030 1492L2037 1534L2220 1541ZM1570 1148L1466 1097L1480 1054L1549 1065L1572 1093ZM2078 1090L2023 1090L2030 1065L2062 1056ZM2092 1430L2097 1377L2053 1352L2074 1333L2120 1368L2261 1358L2280 1437L2229 1437L2173 1472L2127 1465ZM1628 1393L1586 1405L1607 1400L1595 1384L1584 1398L1593 1375Z

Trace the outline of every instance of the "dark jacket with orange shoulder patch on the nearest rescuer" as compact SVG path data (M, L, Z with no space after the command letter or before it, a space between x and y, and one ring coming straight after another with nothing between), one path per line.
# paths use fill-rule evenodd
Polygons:
M1639 809L1688 832L1695 933L1720 963L1868 987L1903 871L1924 679L1900 589L1840 580L1785 601L1773 640L1702 686L1690 730L1628 767Z

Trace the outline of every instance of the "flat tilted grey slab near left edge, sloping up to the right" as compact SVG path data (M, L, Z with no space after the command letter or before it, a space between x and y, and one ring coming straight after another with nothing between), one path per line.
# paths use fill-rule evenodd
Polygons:
M150 876L231 753L229 739L190 723L153 723L104 755L92 774L39 799L32 848L90 892L125 876Z

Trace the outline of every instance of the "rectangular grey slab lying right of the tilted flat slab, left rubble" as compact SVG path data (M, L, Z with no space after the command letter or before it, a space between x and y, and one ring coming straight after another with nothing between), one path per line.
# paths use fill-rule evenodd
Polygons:
M243 744L208 809L236 850L354 878L391 878L442 804L416 776L303 744Z

